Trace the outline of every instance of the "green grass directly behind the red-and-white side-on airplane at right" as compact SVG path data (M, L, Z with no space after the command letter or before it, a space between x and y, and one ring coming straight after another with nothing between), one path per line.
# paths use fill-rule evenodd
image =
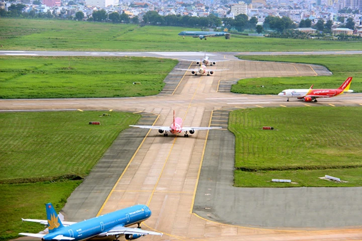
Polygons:
M238 56L246 60L278 61L319 64L327 67L332 76L271 77L242 79L231 87L231 92L247 94L278 94L283 89L338 88L352 76L351 89L362 92L362 55L308 55L308 56ZM257 87L263 85L263 88Z

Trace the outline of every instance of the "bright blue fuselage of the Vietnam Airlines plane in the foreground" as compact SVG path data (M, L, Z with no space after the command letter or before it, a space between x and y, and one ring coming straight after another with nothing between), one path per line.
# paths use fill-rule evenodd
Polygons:
M45 235L42 240L50 241L58 235L72 237L75 241L94 236L105 236L105 232L115 226L130 226L135 223L140 223L150 215L151 210L147 206L135 205L69 226L64 226L60 230Z

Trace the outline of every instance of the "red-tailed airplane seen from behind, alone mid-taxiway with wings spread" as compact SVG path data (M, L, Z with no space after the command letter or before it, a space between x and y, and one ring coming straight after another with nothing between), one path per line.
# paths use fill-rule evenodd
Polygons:
M189 137L188 132L193 135L195 131L200 130L211 130L211 129L221 129L221 127L183 127L183 121L180 117L175 117L175 111L173 110L173 121L171 126L169 127L155 127L155 126L133 126L130 127L138 127L143 129L157 129L160 134L163 132L163 136L167 137L167 132L172 133L173 135L177 135L179 133L185 132L184 137Z

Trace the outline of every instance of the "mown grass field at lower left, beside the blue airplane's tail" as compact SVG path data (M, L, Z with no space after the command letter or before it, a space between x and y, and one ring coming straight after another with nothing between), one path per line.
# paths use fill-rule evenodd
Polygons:
M140 118L103 113L0 113L0 240L42 230L43 225L22 223L21 218L44 219L46 202L59 211L81 182L68 178L87 175L118 134ZM89 121L101 125L88 125Z

